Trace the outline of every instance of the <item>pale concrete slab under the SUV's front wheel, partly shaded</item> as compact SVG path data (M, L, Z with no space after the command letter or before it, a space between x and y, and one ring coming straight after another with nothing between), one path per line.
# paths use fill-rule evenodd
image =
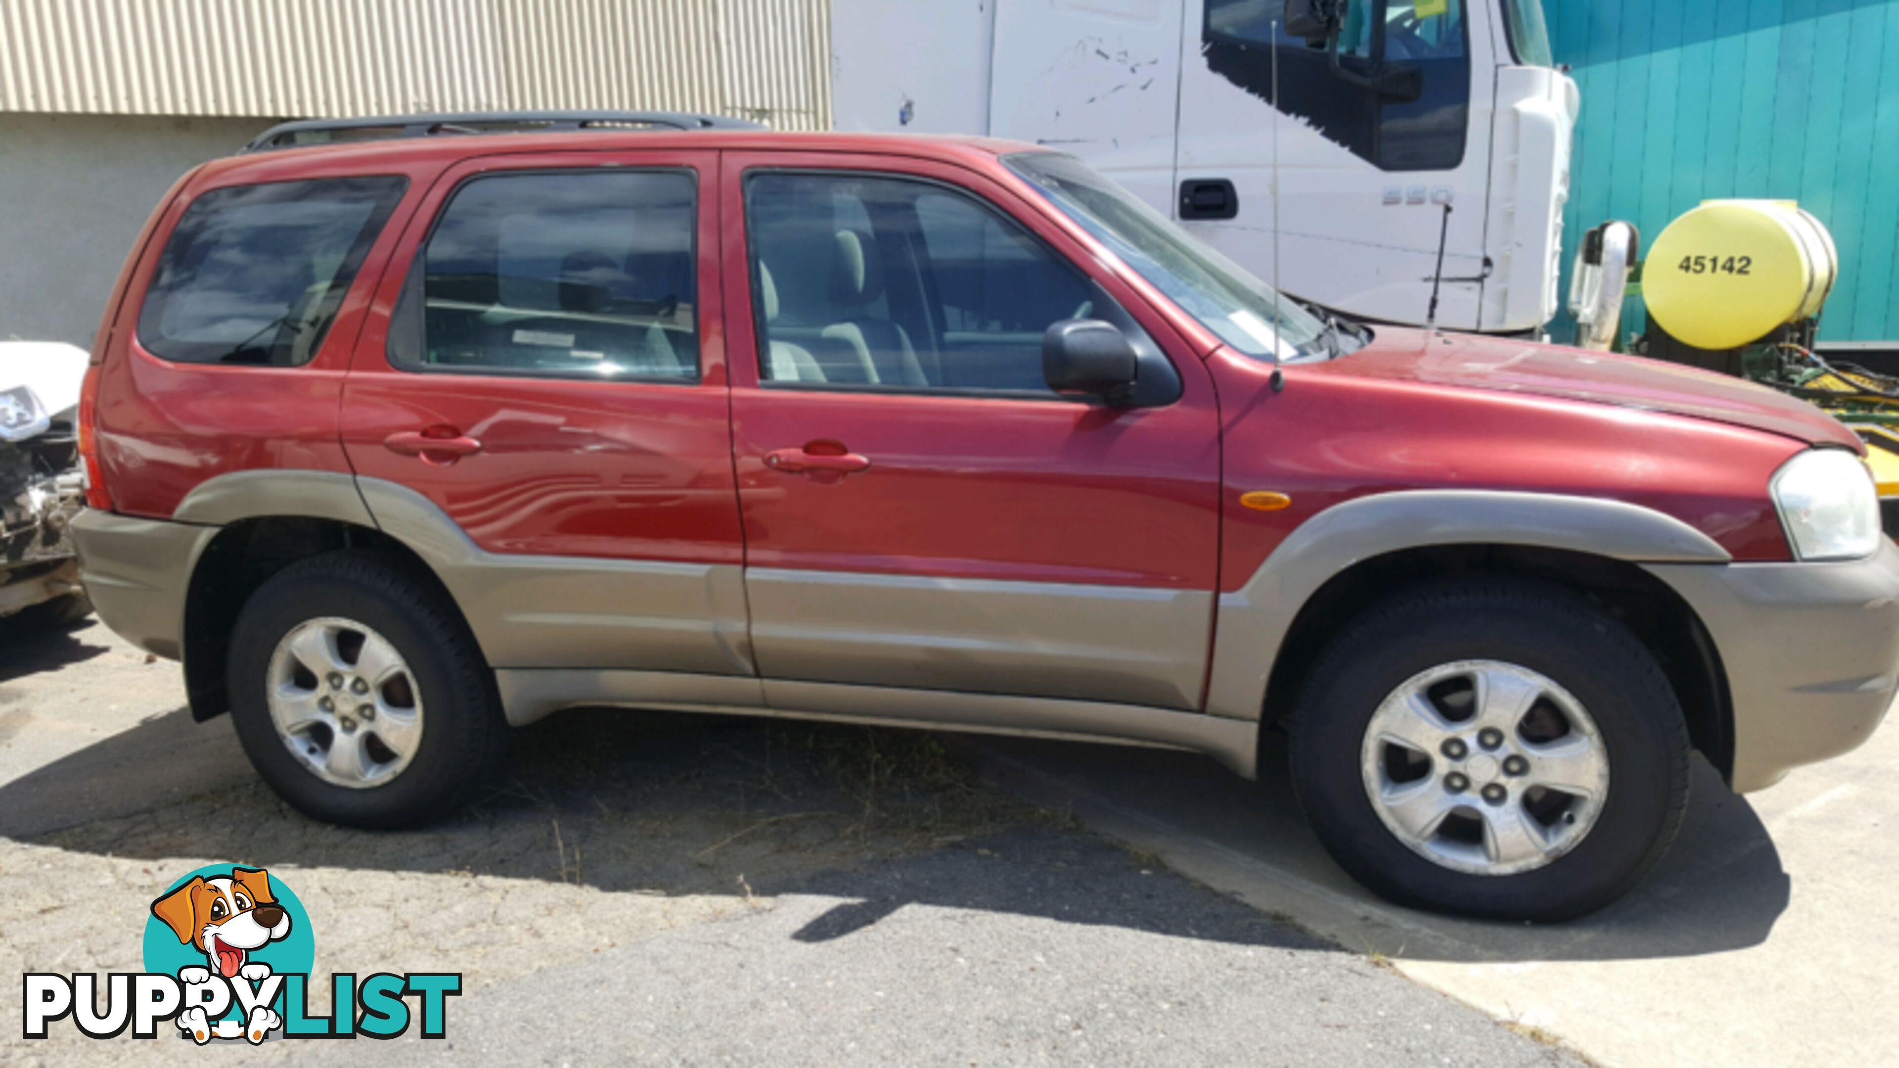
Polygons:
M1899 1064L1899 722L1747 796L1698 760L1656 872L1555 927L1373 899L1301 821L1282 749L1257 789L1187 754L970 749L1018 796L1601 1064Z

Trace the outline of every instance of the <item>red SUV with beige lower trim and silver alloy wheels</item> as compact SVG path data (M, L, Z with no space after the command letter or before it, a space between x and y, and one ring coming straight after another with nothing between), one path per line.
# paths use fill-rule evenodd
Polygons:
M572 705L1193 749L1394 901L1565 918L1688 754L1899 669L1859 441L1675 365L1367 329L1081 162L674 114L277 127L184 177L82 401L99 614L298 810Z

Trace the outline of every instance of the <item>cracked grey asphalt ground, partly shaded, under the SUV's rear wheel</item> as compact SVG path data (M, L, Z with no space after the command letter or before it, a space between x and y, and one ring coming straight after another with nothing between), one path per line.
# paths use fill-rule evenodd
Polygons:
M298 893L317 973L463 975L446 1041L247 1058L1582 1062L984 785L927 734L568 713L522 732L515 777L469 813L367 834L283 808L228 718L182 703L177 665L97 623L0 633L9 1020L9 975L139 971L148 903L235 861ZM6 1064L216 1057L68 1022L0 1034Z

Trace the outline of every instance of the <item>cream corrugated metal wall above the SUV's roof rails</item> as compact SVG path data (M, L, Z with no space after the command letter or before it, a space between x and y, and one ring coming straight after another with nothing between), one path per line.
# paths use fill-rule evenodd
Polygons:
M830 125L828 0L0 0L0 110Z

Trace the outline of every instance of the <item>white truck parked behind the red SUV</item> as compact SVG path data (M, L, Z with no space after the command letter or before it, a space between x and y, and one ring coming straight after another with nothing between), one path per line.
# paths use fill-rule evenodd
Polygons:
M832 0L832 101L1065 148L1362 319L1426 321L1439 236L1438 325L1557 312L1578 95L1540 0Z

